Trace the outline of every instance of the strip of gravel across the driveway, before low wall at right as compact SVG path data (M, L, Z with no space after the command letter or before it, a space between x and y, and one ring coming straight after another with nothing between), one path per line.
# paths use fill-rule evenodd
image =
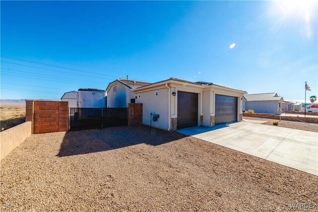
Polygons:
M246 117L246 116L244 116L243 119L265 121L265 123L262 123L262 125L271 125L271 126L273 126L274 121L279 121L275 119L254 118L254 117ZM318 133L318 124L312 124L312 123L308 124L304 122L292 122L292 121L281 120L279 121L278 127L305 130L305 131Z

